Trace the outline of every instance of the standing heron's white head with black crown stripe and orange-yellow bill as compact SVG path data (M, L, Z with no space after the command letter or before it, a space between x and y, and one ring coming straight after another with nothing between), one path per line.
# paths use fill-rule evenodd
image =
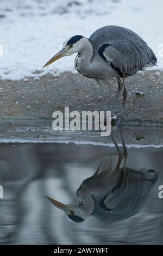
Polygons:
M44 66L48 66L55 62L55 60L60 59L64 56L70 56L73 53L82 53L85 46L88 44L89 40L82 35L74 35L71 38L68 38L64 44L62 49L55 54ZM90 44L90 43L89 43Z

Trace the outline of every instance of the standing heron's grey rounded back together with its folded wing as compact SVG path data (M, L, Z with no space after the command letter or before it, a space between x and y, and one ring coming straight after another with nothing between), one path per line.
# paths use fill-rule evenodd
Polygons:
M90 36L99 55L121 74L133 75L143 67L156 64L156 57L143 39L129 29L106 26Z

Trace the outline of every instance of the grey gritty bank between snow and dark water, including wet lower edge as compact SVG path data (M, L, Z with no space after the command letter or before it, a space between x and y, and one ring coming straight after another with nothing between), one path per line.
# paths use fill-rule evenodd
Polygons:
M148 71L127 78L128 98L122 121L129 144L162 145L163 72ZM52 130L52 113L64 111L109 110L117 88L109 91L78 74L64 73L60 77L44 76L40 80L0 81L0 141L89 141L109 143L97 131ZM136 91L143 95L136 95ZM121 109L118 100L114 109ZM117 133L117 135L116 135ZM118 138L118 132L115 131Z

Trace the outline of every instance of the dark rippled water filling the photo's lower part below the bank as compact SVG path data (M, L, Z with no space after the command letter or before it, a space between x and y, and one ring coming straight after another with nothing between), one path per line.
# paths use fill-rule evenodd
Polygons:
M163 148L128 148L125 176L116 169L113 145L1 143L1 245L163 244L162 153ZM68 221L43 196L78 205L78 188L86 211L95 204L83 222Z

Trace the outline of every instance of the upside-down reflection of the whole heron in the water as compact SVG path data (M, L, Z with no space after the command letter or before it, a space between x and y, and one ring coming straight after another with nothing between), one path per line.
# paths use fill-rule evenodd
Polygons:
M137 214L145 204L158 173L153 169L130 169L126 165L127 148L120 128L123 153L111 134L118 151L116 167L103 159L95 174L85 179L76 191L78 205L66 205L46 197L68 220L82 222L93 215L100 221L117 222ZM123 161L123 164L122 164Z

